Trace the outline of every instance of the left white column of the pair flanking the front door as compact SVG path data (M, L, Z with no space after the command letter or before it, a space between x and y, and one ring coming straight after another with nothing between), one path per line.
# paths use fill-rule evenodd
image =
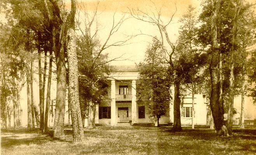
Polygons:
M110 125L116 126L116 82L115 80L111 81L111 119Z

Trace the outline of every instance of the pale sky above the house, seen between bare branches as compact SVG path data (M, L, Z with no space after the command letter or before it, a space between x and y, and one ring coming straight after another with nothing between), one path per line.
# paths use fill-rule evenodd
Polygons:
M97 0L82 0L78 1L79 6L85 6L88 14L93 15L93 11L96 10ZM177 12L174 15L173 22L168 26L167 31L170 35L171 41L175 41L178 36L179 22L178 20L182 17L186 8L191 4L193 7L200 7L199 0L179 0L176 2ZM115 21L121 19L123 15L129 16L129 9L140 9L144 12L148 12L153 15L152 12L161 10L161 19L167 23L171 15L175 12L175 1L174 0L102 0L98 4L97 22L100 32L98 38L103 43L111 29L113 22L113 15ZM81 9L83 11L84 9ZM156 26L147 22L139 21L134 18L126 20L119 28L116 34L110 38L109 43L115 41L125 40L127 36L136 34L149 34L152 36L159 36L160 33ZM121 61L111 62L111 65L135 65L144 59L144 52L146 51L147 45L152 42L152 38L146 35L136 36L129 40L128 45L121 47L111 47L105 52L109 53L109 59L122 56Z

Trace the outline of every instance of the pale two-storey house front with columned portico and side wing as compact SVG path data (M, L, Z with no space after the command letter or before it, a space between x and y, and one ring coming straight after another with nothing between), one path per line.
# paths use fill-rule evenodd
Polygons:
M116 72L108 75L110 100L105 100L96 105L95 124L118 124L130 123L149 124L154 119L149 118L147 102L137 100L136 82L139 79L139 71L136 66L116 66ZM192 97L182 98L181 123L192 122ZM205 95L195 95L195 124L207 124L207 104ZM172 124L173 100L170 100L169 109L161 116L160 124ZM85 123L86 124L86 123Z

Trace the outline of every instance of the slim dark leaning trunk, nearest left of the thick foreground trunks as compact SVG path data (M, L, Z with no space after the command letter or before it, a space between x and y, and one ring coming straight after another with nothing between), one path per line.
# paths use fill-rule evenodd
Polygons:
M48 115L51 102L51 76L52 76L52 64L53 64L53 52L50 51L49 56L49 72L48 72L48 83L47 83L47 95L46 95L46 111L44 114L44 133L48 131Z

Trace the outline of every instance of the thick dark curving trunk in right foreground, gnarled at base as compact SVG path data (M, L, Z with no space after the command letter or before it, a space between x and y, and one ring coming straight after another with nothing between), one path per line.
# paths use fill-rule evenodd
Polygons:
M220 95L220 74L219 74L219 55L220 52L218 50L218 42L217 42L217 20L218 20L218 13L220 9L220 2L219 0L213 4L214 10L212 12L211 17L211 46L212 46L212 58L209 66L210 71L210 78L211 78L211 94L210 94L210 108L212 110L212 117L214 120L214 125L216 132L219 135L228 135L226 126L224 125L224 109L223 103L220 102L222 100Z

